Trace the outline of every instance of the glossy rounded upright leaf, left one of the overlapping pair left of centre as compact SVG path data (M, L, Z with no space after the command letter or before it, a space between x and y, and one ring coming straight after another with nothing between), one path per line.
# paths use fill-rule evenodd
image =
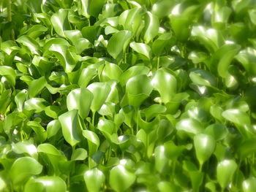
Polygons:
M94 95L87 88L77 88L67 95L67 109L78 110L78 114L85 119L89 115L93 99Z

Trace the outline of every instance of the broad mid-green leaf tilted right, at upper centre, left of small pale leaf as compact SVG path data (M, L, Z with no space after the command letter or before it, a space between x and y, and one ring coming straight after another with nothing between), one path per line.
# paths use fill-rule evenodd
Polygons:
M108 42L108 53L115 59L121 57L131 38L131 31L119 31L117 34L113 34Z

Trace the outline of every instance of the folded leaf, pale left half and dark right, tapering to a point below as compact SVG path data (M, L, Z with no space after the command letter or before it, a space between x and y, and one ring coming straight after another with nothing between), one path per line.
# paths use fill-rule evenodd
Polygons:
M78 110L65 112L59 116L59 121L64 139L72 147L77 145L82 139L82 122L78 116Z

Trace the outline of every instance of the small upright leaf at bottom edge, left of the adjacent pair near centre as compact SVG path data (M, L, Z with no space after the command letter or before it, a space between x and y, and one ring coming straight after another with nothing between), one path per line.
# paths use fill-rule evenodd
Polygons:
M86 171L83 174L83 178L86 182L86 188L89 192L100 191L102 185L105 183L105 175L96 167Z

